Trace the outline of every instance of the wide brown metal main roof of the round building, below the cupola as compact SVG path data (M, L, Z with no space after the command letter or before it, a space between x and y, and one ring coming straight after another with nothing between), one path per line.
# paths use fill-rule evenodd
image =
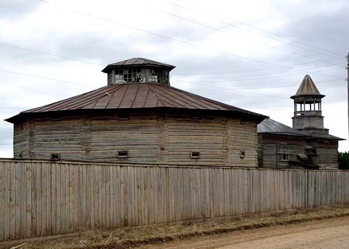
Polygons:
M83 93L50 105L21 112L6 121L13 122L15 117L38 112L58 112L67 110L112 110L169 107L190 110L232 111L255 116L259 120L262 114L226 105L215 100L182 91L164 84L131 83L112 84L100 89Z

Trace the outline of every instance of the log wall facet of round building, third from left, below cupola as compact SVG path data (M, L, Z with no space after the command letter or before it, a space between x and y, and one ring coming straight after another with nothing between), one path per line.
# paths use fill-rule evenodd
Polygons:
M156 114L131 115L129 120L91 120L89 160L157 163ZM128 151L128 158L117 158L117 151Z

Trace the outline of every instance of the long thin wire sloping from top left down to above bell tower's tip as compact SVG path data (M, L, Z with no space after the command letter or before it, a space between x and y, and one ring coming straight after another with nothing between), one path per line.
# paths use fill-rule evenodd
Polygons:
M57 6L57 5L55 5L54 3L50 3L50 2L45 1L45 0L38 0L38 1L41 1L41 2L43 2L43 3L50 4L50 5L52 5L52 6ZM103 20L104 22L110 22L110 23L112 23L112 24L116 24L116 25L121 26L121 27L126 27L126 28L128 28L128 29L134 29L134 30L137 30L137 31L142 31L142 32L144 32L144 33L149 33L149 34L151 34L151 35L153 35L153 36L158 36L158 37L162 37L162 38L174 40L174 41L177 41L177 42L179 42L179 43L184 43L184 44L186 44L186 45L191 45L191 46L194 46L194 47L199 47L199 45L194 44L194 43L189 43L189 42L186 42L186 41L184 41L184 40L179 40L179 39L177 39L177 38L172 38L172 37L169 37L169 36L163 36L163 35L158 34L158 33L154 33L154 32L151 32L151 31L146 31L146 30L144 30L144 29L138 29L138 28L136 28L136 27L132 27L132 26L127 25L127 24L122 24L122 23L120 23L120 22L114 22L114 21L112 21L112 20L108 20L108 19L105 19L105 18L103 18L103 17L98 17L98 16L96 16L96 15L91 15L91 14L88 14L88 13L84 13L84 12L81 12L81 11L79 11L79 10L71 10L71 11L73 11L73 12L75 12L75 13L78 13L78 14L80 14L80 15L85 15L85 16L87 16L87 17L93 17L93 18L98 19L98 20ZM260 61L260 60L258 60L258 59L252 59L252 58L248 58L248 57L246 57L246 56L241 56L241 55L238 55L238 54L232 54L232 53L230 53L230 52L223 52L223 51L217 51L217 50L212 50L212 51L218 52L218 53L220 53L220 54L225 54L225 55L228 55L228 56L234 56L234 57L237 57L237 58L246 59L246 60L249 60L249 61L255 61L255 62L259 62L259 63L265 63L265 64L271 65L271 66L276 66L276 67L280 67L280 68L288 68L288 69L293 69L293 70L295 70L295 68L290 68L290 67L287 67L287 66L280 66L280 65L277 65L277 64L275 64L275 63L269 63L269 62L266 62L266 61ZM302 69L299 69L299 70L300 70L300 71L304 71L304 72L306 72L306 73L311 73L311 72L308 72L308 71L306 71L306 70L302 70ZM319 74L319 73L316 73L316 74L322 75L322 76L333 77L332 75L323 75L323 74Z

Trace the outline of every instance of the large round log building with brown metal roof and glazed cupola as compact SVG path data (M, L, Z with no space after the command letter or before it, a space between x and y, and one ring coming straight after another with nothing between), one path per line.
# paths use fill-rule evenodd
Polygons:
M14 157L257 167L265 116L171 87L173 68L113 63L103 69L107 86L7 119Z

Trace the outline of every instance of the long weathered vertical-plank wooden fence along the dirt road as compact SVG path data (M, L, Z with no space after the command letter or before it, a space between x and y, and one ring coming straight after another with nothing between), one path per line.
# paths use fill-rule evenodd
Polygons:
M349 171L0 160L0 241L349 202Z

